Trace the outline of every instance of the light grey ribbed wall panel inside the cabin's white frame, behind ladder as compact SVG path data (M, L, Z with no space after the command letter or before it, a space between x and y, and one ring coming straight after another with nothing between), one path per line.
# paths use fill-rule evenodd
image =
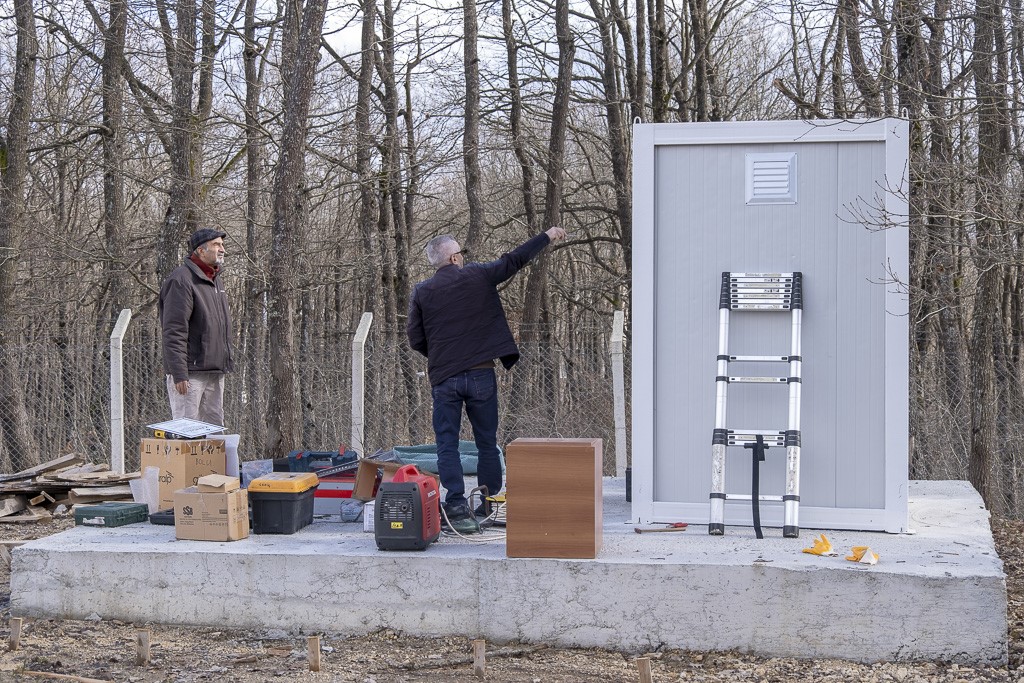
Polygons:
M879 194L884 151L882 142L655 147L654 501L708 500L721 272L801 270L801 505L883 507L885 291L872 282L884 275L884 242L841 216L857 197ZM799 203L746 206L744 155L790 152ZM731 317L730 352L788 353L787 313ZM730 372L785 374L774 365ZM728 405L729 426L786 426L785 385L733 385ZM749 452L729 451L727 490L746 493ZM781 450L768 452L762 493L781 493L783 461Z

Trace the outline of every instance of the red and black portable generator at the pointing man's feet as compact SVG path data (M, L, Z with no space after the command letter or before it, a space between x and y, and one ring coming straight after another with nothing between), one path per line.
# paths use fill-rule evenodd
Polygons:
M424 550L441 532L437 481L404 465L382 481L374 504L374 540L380 550Z

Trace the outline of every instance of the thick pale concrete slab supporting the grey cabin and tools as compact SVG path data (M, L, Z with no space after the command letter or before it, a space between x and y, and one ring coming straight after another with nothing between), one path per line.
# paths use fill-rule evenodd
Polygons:
M508 559L504 542L442 537L380 552L361 523L293 536L176 541L173 527L78 527L13 551L11 612L81 620L365 634L464 635L624 651L659 646L771 656L1007 663L1007 593L988 513L970 484L910 484L912 535L634 532L604 480L597 559ZM849 562L868 545L881 562Z

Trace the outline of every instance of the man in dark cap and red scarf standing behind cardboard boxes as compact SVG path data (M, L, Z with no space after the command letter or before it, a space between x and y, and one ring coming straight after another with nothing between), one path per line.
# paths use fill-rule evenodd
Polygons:
M188 257L160 288L160 326L171 418L224 425L224 374L231 372L231 314L220 271L225 232L188 239Z

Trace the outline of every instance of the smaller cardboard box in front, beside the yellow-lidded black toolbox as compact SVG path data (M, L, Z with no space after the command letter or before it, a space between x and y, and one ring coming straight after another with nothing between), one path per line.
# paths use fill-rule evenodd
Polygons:
M174 492L174 535L189 541L249 538L249 496L236 477L210 474Z

